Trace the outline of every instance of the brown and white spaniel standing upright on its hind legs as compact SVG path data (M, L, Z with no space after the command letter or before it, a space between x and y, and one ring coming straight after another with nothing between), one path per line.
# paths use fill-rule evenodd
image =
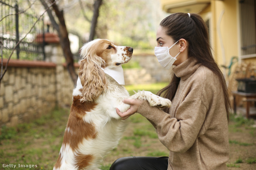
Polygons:
M106 39L83 45L77 86L54 170L99 170L106 154L117 147L127 120L121 119L116 108L122 112L130 108L122 102L129 93L122 81L113 78L116 74L110 76L104 70L120 68L130 61L132 53L132 47L116 46ZM150 106L171 106L170 100L147 91L130 98L148 100Z

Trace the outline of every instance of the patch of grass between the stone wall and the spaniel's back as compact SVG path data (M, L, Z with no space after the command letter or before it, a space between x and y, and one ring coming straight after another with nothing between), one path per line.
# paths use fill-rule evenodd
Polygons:
M60 151L68 114L68 109L56 109L31 123L2 127L0 162L16 164L16 168L18 164L24 164L37 165L34 169L52 169ZM56 141L57 138L61 141Z

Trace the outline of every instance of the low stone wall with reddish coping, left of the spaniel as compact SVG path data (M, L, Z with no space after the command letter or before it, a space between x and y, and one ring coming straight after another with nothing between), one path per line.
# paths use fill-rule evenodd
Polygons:
M0 127L29 122L72 104L74 84L61 62L62 51L56 46L51 53L55 63L10 60L0 84Z

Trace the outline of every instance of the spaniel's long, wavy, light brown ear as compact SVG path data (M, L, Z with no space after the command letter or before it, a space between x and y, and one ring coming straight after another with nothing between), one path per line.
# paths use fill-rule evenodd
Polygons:
M80 63L79 78L81 80L82 96L81 102L94 101L107 88L107 80L104 71L100 66L105 61L95 54L85 53Z

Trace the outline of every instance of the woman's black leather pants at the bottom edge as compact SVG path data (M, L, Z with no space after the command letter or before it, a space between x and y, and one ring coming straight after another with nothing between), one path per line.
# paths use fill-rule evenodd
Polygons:
M131 156L117 159L109 170L167 170L167 167L167 156Z

